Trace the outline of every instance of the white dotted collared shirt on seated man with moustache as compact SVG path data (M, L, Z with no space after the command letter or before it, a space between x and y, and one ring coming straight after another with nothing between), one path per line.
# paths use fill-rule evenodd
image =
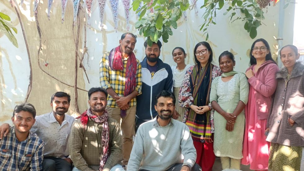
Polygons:
M68 140L75 118L65 114L60 125L53 112L36 116L36 122L31 131L44 141L44 156L60 157L69 156Z

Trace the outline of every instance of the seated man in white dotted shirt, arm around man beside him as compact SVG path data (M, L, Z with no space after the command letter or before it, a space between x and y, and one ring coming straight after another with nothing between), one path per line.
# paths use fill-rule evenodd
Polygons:
M43 171L72 170L72 160L68 158L69 148L67 148L67 145L75 118L65 114L69 110L70 101L70 95L65 92L59 91L54 93L50 103L53 111L37 116L36 122L30 130L45 143L44 159L42 162ZM3 132L8 129L8 124L1 125L0 139Z

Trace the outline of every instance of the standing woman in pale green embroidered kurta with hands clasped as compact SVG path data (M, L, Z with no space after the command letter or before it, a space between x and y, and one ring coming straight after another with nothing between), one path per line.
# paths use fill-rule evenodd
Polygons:
M221 53L218 60L223 74L212 81L210 92L215 110L214 154L221 157L223 170L240 169L249 85L244 73L233 70L235 59L231 52Z

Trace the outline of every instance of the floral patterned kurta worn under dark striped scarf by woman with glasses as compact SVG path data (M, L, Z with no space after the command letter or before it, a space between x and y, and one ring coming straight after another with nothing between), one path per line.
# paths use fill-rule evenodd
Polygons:
M192 70L193 70L194 66L195 65L189 67L188 70L186 71L184 80L181 84L181 89L180 89L180 92L179 92L179 96L178 96L179 105L181 107L186 108L186 111L185 111L185 114L184 114L184 122L186 121L186 116L189 113L190 106L194 103L194 99L193 99L193 96L192 96L192 93L191 93L191 87L190 87L190 75L192 73ZM221 74L222 74L221 69L218 66L214 65L213 69L212 69L211 81L215 77L221 76ZM194 105L196 105L196 104L194 104ZM211 103L209 103L208 106L210 108L212 108ZM213 110L213 108L210 112L211 112L210 113L211 132L214 133L214 122L213 122L214 110Z

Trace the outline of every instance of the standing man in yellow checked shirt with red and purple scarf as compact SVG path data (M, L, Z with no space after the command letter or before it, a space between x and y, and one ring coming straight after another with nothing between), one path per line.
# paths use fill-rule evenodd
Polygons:
M118 123L123 133L123 166L128 164L136 113L136 96L141 94L141 64L133 50L136 36L124 33L119 46L106 52L100 61L100 84L107 90L107 111Z

